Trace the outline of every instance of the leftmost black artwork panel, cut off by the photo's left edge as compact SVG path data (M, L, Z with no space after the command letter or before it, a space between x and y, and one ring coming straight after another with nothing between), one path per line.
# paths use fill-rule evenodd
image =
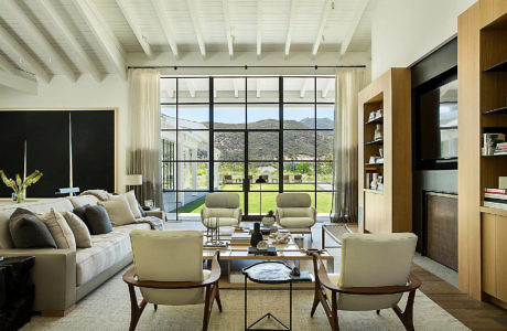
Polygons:
M24 117L26 111L0 111L0 170L13 179L23 175ZM0 181L0 197L11 197L12 190Z

